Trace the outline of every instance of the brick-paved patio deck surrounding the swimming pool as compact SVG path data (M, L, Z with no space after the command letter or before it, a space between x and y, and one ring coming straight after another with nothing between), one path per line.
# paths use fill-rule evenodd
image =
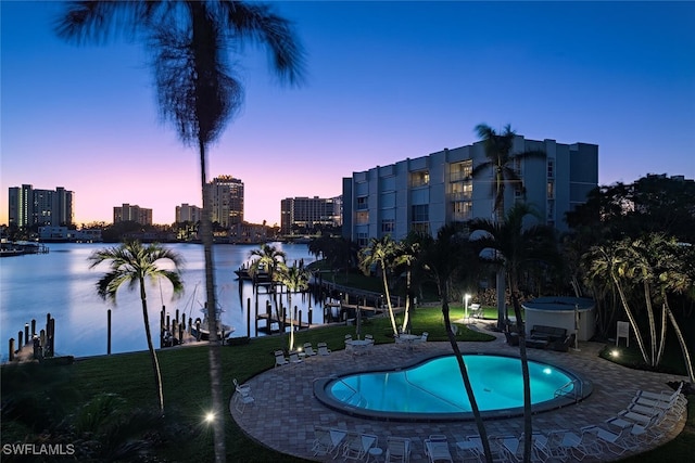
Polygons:
M478 326L484 329L482 322ZM458 343L464 353L518 353L518 347L510 347L500 333L489 343ZM579 350L569 352L529 349L530 360L548 362L581 374L593 382L593 394L585 400L561 409L533 415L533 430L553 429L579 430L582 426L601 424L624 409L637 389L660 391L669 389L667 383L683 381L685 377L670 374L631 370L597 357L604 344L580 343ZM248 406L243 413L231 407L230 413L243 432L252 439L279 452L308 461L333 461L330 456L315 458L311 452L314 426L338 427L345 430L375 434L378 446L386 449L387 437L407 437L412 440L410 462L428 462L424 440L430 434L443 434L450 442L450 450L457 460L455 442L468 435L478 434L472 421L469 422L395 422L362 419L340 413L321 404L314 398L313 382L319 377L340 375L356 371L370 371L412 364L438 355L452 353L448 343L428 342L408 351L401 345L383 344L372 348L370 355L352 356L344 350L330 356L316 356L305 361L283 365L261 373L251 378L255 403ZM681 421L666 439L677 436L684 424ZM485 420L488 435L519 436L523 432L523 417ZM662 440L664 441L664 440ZM661 442L662 442L661 441ZM635 449L640 453L646 448ZM616 456L619 460L630 453ZM338 458L337 461L342 461ZM583 461L592 461L590 458ZM594 460L595 461L595 460ZM602 459L601 461L608 461Z

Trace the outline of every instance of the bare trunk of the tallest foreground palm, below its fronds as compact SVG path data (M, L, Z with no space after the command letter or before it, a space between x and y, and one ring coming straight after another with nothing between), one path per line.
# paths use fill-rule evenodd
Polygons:
M217 340L217 300L215 298L215 274L213 261L213 230L211 222L211 204L207 193L207 180L205 177L205 144L199 141L201 189L203 193L203 210L201 214L201 229L203 253L205 256L205 293L207 296L207 330L210 331L210 387L213 407L213 440L215 448L215 462L226 460L225 454L225 409L222 400L222 356Z

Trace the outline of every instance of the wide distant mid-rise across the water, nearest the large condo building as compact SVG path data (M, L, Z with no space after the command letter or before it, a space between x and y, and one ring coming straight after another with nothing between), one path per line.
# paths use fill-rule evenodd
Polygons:
M280 201L280 233L313 233L317 227L341 226L341 196L288 197Z

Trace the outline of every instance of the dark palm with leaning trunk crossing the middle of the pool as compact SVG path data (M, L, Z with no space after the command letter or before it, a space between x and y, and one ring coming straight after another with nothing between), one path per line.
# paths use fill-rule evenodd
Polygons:
M422 240L422 254L421 262L425 271L437 282L439 290L439 296L442 299L442 314L444 316L444 326L448 336L448 342L452 345L452 349L456 355L458 361L458 369L460 371L462 380L464 381L464 387L468 400L470 401L470 409L476 420L476 426L478 427L478 434L480 435L485 459L488 462L492 462L490 453L490 442L488 441L488 432L485 424L482 421L480 409L476 400L472 385L470 384L470 377L468 375L468 369L466 368L466 361L464 360L456 337L452 331L452 323L448 308L448 287L451 286L452 279L464 269L465 263L475 259L475 255L470 253L470 245L468 245L468 237L454 226L448 224L442 227L437 233L437 240L432 240L431 236L426 236Z

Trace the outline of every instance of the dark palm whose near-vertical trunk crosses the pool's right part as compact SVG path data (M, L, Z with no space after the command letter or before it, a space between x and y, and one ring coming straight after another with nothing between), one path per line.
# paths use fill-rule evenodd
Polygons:
M546 226L525 227L527 216L534 215L533 209L523 204L515 204L505 215L503 221L473 219L469 227L471 233L482 232L473 242L481 252L493 252L494 263L498 265L509 283L511 304L519 331L519 357L523 377L523 461L531 461L531 384L529 363L526 351L526 327L521 314L520 285L522 272L538 265L558 261L553 230Z

